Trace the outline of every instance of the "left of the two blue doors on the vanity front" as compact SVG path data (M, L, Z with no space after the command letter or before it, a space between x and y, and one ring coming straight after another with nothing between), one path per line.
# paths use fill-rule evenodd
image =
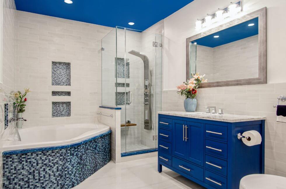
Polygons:
M172 154L180 158L187 158L187 142L184 140L185 125L185 121L173 120Z

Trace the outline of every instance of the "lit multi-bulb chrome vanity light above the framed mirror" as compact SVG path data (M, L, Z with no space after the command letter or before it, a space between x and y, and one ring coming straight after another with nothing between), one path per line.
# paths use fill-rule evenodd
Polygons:
M197 19L196 30L212 25L215 22L220 22L227 17L235 16L237 13L242 11L242 1L237 3L231 2L230 5L224 9L218 9L213 14L207 14L204 19Z

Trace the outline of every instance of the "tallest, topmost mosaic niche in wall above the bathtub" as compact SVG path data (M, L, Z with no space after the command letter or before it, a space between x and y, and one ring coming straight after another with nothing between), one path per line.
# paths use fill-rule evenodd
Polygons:
M71 85L71 63L52 62L52 85Z

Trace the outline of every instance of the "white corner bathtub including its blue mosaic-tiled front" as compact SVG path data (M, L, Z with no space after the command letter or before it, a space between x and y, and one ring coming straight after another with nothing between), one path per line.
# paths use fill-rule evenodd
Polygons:
M111 130L103 124L27 127L19 133L22 141L15 136L1 146L3 188L72 188L111 160Z

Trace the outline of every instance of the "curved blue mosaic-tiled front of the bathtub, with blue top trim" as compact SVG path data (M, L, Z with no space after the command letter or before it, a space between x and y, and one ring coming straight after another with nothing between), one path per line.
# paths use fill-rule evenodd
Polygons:
M111 160L110 133L42 151L38 148L3 152L3 188L78 185Z

